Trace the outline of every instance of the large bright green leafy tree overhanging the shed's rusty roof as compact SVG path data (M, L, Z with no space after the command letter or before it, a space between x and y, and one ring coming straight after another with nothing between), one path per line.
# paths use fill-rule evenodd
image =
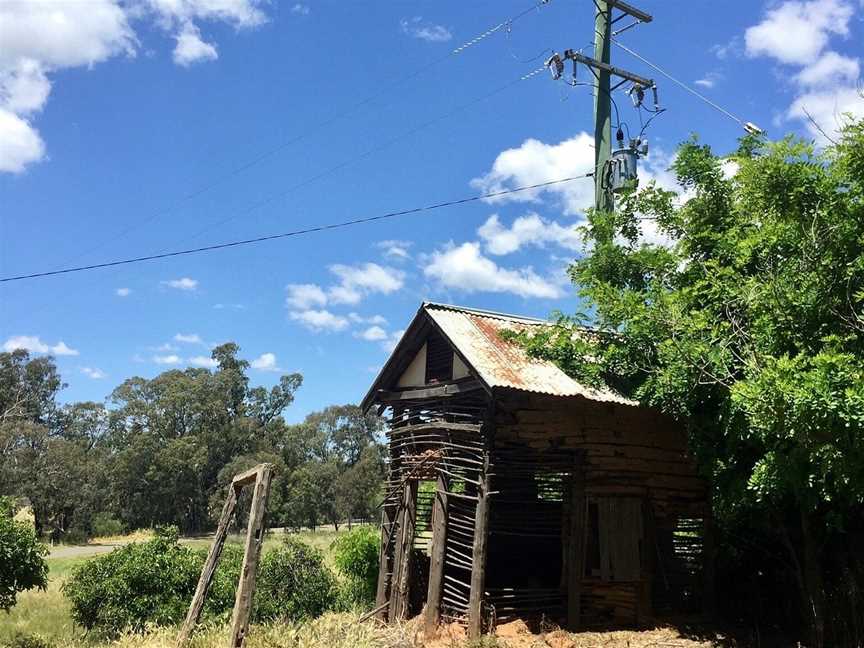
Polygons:
M824 568L860 555L864 517L864 124L823 151L694 139L673 170L686 200L650 186L589 214L570 272L597 330L523 341L687 421L716 515L786 548L821 646Z

